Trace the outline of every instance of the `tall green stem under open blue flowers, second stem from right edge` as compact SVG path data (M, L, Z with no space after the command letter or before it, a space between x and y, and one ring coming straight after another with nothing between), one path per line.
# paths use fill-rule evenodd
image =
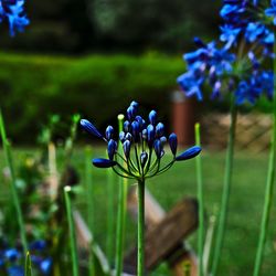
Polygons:
M217 273L217 267L220 263L221 251L222 251L223 240L224 240L224 234L225 234L229 198L230 198L231 184L232 184L236 117L237 117L237 110L235 106L235 97L233 94L232 99L231 99L231 124L230 124L230 131L229 131L224 185L223 185L223 191L222 191L221 211L219 214L219 225L217 225L217 232L216 232L216 238L215 238L215 245L214 245L212 276L215 276Z

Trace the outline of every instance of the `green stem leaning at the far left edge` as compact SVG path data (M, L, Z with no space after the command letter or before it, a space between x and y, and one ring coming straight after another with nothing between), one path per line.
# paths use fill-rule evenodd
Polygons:
M3 144L3 150L4 150L7 163L11 173L11 197L12 197L12 201L13 201L15 212L17 212L17 219L18 219L18 224L20 229L20 238L23 245L23 250L26 253L28 243L26 243L25 227L24 227L24 221L23 221L23 214L22 214L22 210L20 205L20 200L19 200L19 195L17 191L17 179L15 179L15 173L14 173L14 168L13 168L13 162L12 162L11 146L10 146L9 140L7 139L1 110L0 110L0 132L2 137L2 144Z

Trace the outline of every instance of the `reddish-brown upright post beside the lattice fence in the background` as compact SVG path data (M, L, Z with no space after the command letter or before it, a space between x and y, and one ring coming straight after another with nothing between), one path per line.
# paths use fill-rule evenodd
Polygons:
M187 98L183 92L172 94L172 129L178 136L180 146L194 144L194 100Z

